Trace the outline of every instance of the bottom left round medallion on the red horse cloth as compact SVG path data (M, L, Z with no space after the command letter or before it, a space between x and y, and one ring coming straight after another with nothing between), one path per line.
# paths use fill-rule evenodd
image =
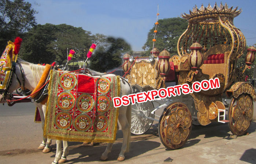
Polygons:
M59 129L68 129L70 127L71 114L60 112L55 116L55 125Z

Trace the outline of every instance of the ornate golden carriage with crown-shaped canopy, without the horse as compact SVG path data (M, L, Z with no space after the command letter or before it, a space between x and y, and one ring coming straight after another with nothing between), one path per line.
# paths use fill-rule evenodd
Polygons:
M247 49L246 66L243 71L237 68L237 60L245 51L246 41L242 32L233 24L233 18L241 9L228 8L216 4L212 8L194 7L190 14L182 17L188 20L188 28L180 36L177 44L178 55L154 48L150 57L133 59L124 55L123 70L127 72L128 82L137 91L160 89L175 84L219 78L220 87L216 89L192 91L187 95L172 97L172 103L154 108L151 101L134 104L132 110L131 132L143 134L152 125L155 111L164 109L159 119L159 137L165 147L177 149L188 140L195 125L208 125L211 122L228 122L233 134L245 134L253 117L253 101L256 100L253 86L245 82L245 69L255 58L254 47ZM203 87L203 86L202 86ZM228 120L225 120L225 105L222 94L232 97Z

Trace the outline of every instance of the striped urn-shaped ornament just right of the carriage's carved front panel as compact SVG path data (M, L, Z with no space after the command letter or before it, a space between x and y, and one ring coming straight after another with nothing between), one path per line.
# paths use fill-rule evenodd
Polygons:
M169 63L170 56L171 54L165 49L162 52L160 52L158 56L159 61L157 63L157 69L161 76L167 75L170 70L170 63Z

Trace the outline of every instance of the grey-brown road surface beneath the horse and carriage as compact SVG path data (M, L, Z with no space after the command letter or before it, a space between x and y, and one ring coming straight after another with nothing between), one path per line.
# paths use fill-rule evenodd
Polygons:
M52 152L44 154L37 150L42 140L41 124L34 123L35 106L32 103L0 105L0 164L45 164L55 157L56 144ZM160 112L161 113L161 112ZM157 122L154 122L157 123ZM143 135L131 137L130 152L122 163L256 163L256 103L254 116L248 135L230 138L227 124L218 122L207 126L193 126L189 140L177 150L167 151L158 137L157 124ZM119 163L122 132L109 154L109 159L100 162L106 145L83 145L81 142L68 142L68 164L81 163Z

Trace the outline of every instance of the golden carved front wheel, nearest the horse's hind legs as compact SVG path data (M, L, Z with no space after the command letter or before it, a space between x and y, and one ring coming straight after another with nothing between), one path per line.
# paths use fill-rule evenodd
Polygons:
M174 102L164 110L159 120L158 133L167 149L182 147L188 140L191 130L192 117L185 104Z

